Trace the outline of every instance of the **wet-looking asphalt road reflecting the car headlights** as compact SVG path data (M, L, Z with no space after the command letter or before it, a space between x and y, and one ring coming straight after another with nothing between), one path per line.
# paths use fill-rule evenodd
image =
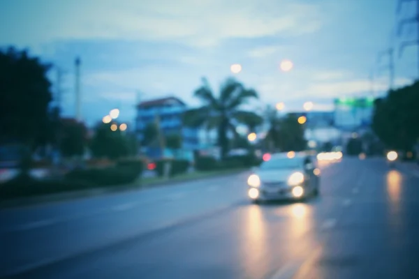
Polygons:
M321 169L301 203L249 203L243 173L0 211L0 277L419 278L416 167Z

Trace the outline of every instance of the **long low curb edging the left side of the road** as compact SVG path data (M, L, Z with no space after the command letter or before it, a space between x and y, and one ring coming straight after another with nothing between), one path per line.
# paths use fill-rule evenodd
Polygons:
M0 211L5 209L13 208L24 208L27 206L36 206L44 204L54 204L59 202L67 202L75 199L86 199L89 197L101 197L105 195L112 195L115 193L124 193L130 191L146 190L154 187L162 186L177 186L178 184L189 182L189 181L199 181L204 179L215 179L222 178L224 176L232 176L235 174L240 174L242 172L247 172L247 169L237 169L237 171L231 171L225 174L216 174L216 175L203 175L199 177L186 177L184 179L174 180L174 181L155 181L145 184L137 185L127 185L127 186L110 186L106 188L94 188L90 190L80 190L75 192L59 193L59 194L50 194L50 195L39 195L34 197L22 197L16 199L0 201Z

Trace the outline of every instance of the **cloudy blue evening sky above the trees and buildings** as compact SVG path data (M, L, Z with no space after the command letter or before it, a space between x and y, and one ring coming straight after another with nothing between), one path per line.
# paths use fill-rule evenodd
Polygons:
M194 89L207 77L216 93L235 77L258 91L252 110L284 102L286 111L332 110L332 99L388 89L388 56L395 47L395 84L418 76L416 47L399 57L396 36L414 3L397 15L397 0L0 0L0 46L27 48L64 70L63 109L75 114L74 60L80 56L82 117L100 121L115 107L133 122L135 104L177 96L199 105ZM279 64L293 61L284 72ZM240 63L233 74L230 65ZM57 70L50 79L56 86ZM54 87L55 88L55 87Z

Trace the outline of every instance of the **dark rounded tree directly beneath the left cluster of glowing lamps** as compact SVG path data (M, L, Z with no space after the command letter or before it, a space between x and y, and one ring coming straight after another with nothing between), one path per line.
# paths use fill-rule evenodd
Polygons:
M110 124L101 124L91 141L91 152L96 158L112 160L128 156L129 146L126 138L119 130L110 130Z

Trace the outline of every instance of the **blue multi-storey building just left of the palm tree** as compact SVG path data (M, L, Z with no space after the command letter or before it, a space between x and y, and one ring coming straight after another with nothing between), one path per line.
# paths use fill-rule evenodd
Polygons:
M182 137L182 149L177 156L193 158L193 151L199 148L198 129L183 126L182 115L187 110L186 104L175 97L148 100L137 105L135 132L138 140L143 140L143 131L149 123L159 120L161 133L167 136L177 134ZM174 156L169 149L161 150L159 144L147 146L145 153L149 158Z

